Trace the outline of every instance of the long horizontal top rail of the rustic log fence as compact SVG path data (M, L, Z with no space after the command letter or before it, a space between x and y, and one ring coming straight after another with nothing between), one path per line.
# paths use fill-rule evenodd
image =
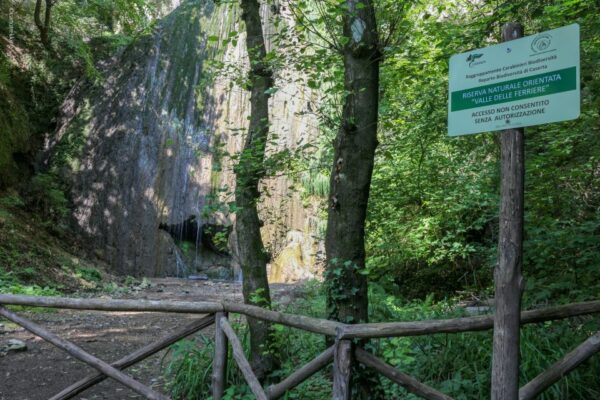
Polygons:
M460 333L485 331L494 327L494 318L490 315L439 319L414 322L387 322L348 325L325 319L265 310L264 308L237 303L150 301L150 300L105 300L70 299L64 297L32 297L0 294L0 304L32 307L66 308L99 311L142 311L168 312L182 314L209 314L230 312L243 314L262 321L286 325L308 332L319 333L340 339L375 339L400 336L421 336L436 333ZM600 313L600 300L573 303L523 311L521 324L533 324L551 320Z

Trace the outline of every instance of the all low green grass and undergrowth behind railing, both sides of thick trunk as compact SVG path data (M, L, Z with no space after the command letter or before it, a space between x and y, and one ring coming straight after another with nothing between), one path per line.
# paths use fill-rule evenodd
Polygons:
M406 301L386 293L381 287L371 285L370 319L372 322L416 321L467 316L457 300ZM525 305L530 308L531 305ZM325 295L318 283L309 283L300 298L286 308L290 313L323 317ZM248 353L247 331L237 318L236 330L240 332ZM325 349L324 338L275 326L275 347L279 349L281 367L270 376L279 382L300 366L306 364ZM593 332L600 330L600 321L594 318L577 318L526 325L521 330L521 385L544 371L567 352L579 345ZM489 398L492 333L468 332L437 334L422 337L373 340L369 346L378 357L399 370L439 389L457 400ZM199 335L183 341L173 348L166 369L170 390L175 399L210 398L212 337ZM230 351L231 353L231 351ZM229 360L228 391L225 399L252 399L235 362ZM558 383L550 387L540 400L589 400L600 398L600 359L592 358ZM380 383L386 400L416 400L401 387L381 377ZM288 392L285 399L317 400L331 398L330 368L314 375L298 388Z

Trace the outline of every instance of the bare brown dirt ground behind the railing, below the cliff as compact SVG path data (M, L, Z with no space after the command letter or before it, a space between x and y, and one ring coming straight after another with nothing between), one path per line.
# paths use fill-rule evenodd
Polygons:
M105 297L149 300L194 301L200 299L242 301L241 285L210 281L152 279L151 285L139 290ZM273 297L282 303L291 301L294 286L272 286ZM99 358L113 362L157 338L189 324L187 314L129 313L60 310L57 312L19 312L59 336L76 343ZM0 356L0 400L46 400L62 389L89 375L93 369L29 332L0 319L0 345L9 339L27 344L27 351ZM212 327L203 331L212 334ZM163 372L166 350L127 373L140 382L166 393ZM141 396L113 380L84 392L78 399L139 399Z

